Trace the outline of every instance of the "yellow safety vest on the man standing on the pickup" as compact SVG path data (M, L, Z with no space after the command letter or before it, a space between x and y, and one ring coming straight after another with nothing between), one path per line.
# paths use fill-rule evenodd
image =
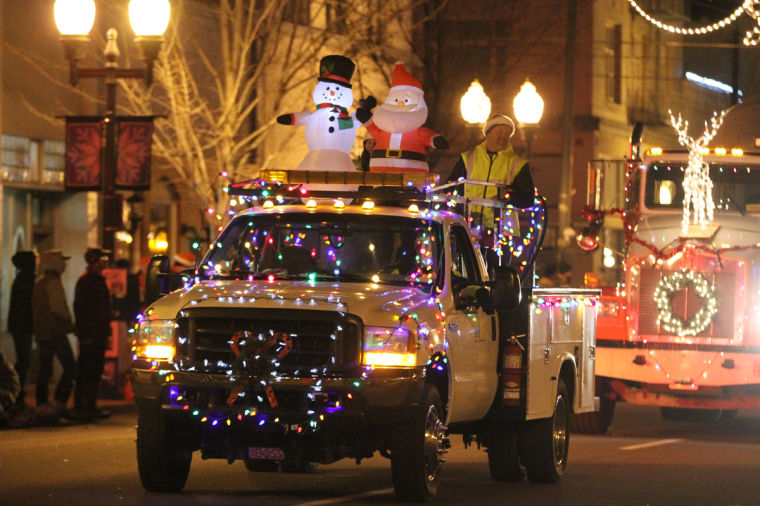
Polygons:
M486 151L486 143L483 142L475 146L474 149L462 153L462 160L467 170L467 179L506 185L512 184L512 180L525 165L525 160L517 156L511 144L507 146L507 149L496 153L491 159ZM496 197L496 188L468 184L465 185L464 194L470 198L494 198ZM484 228L494 227L492 208L481 209L480 206L472 206L470 211L476 220L475 225L481 223ZM482 221L480 221L481 213Z

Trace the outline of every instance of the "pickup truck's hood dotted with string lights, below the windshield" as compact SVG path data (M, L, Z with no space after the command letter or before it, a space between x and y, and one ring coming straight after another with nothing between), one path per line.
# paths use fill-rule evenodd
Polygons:
M400 317L434 297L414 287L375 283L309 281L201 281L157 300L150 318L172 319L183 309L292 308L340 311L359 316L365 325L395 326Z

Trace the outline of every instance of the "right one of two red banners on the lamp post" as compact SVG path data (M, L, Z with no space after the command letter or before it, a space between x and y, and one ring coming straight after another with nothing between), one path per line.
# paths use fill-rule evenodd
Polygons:
M123 190L149 190L153 116L123 116L116 121L114 186Z

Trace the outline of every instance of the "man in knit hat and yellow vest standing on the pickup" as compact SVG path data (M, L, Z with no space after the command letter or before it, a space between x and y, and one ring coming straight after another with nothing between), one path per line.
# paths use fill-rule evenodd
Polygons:
M503 114L493 114L483 127L485 140L469 151L462 153L451 171L448 181L461 177L488 181L510 186L509 203L518 208L533 205L535 186L530 173L530 165L517 156L510 139L515 133L515 124ZM497 189L491 186L465 185L465 195L472 198L494 198ZM483 243L493 243L494 215L491 208L472 206L471 213L475 226L485 229ZM490 240L489 240L490 238Z

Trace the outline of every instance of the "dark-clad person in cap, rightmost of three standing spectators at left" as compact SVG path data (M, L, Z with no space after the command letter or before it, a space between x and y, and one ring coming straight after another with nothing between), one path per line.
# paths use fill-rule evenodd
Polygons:
M79 368L72 414L80 420L110 416L107 411L96 407L108 338L111 336L111 295L102 274L108 265L109 253L101 248L87 249L84 254L87 270L79 277L74 289Z

